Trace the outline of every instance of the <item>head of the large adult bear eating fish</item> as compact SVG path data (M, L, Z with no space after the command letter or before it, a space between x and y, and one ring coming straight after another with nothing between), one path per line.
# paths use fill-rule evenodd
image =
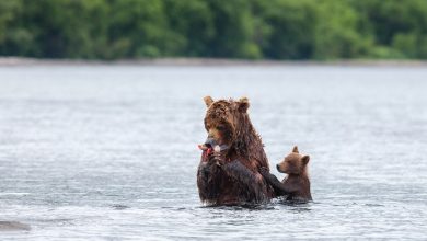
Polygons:
M231 147L243 133L244 126L250 125L247 117L249 100L242 97L239 101L219 100L212 97L204 99L207 112L205 116L205 128L208 133L208 140L205 145L215 142L220 147Z

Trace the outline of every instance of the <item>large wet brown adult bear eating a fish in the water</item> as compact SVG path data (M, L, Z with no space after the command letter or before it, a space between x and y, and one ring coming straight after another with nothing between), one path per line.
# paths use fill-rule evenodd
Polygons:
M264 146L247 115L246 97L214 101L206 96L204 145L197 171L201 202L208 205L245 205L274 196L258 170L268 169Z

